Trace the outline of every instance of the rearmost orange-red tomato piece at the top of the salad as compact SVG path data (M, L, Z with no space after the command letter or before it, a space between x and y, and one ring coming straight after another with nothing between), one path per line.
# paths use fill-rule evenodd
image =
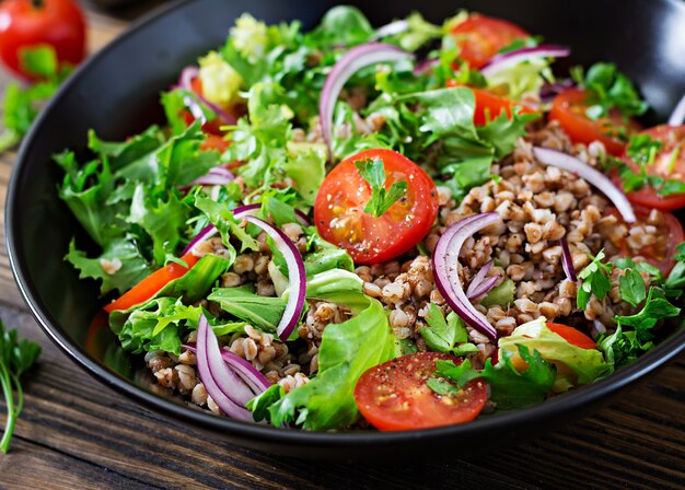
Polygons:
M472 14L452 30L452 36L460 47L460 57L472 68L481 68L497 52L516 39L531 35L511 22Z

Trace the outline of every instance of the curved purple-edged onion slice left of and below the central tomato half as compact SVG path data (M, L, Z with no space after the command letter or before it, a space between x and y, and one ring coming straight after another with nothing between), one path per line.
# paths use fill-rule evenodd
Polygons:
M295 325L302 316L304 310L304 296L306 292L306 273L304 271L304 261L298 248L278 228L267 223L259 218L245 215L243 218L248 223L259 226L274 241L278 250L283 255L286 265L288 266L288 281L290 283L290 295L286 303L283 316L276 327L276 334L285 342L290 337Z

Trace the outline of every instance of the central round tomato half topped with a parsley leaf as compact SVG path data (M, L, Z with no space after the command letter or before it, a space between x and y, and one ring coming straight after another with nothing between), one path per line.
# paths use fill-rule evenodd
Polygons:
M407 192L383 215L364 212L371 186L355 162L380 159L385 188L406 182ZM326 176L314 203L314 222L321 236L349 252L358 264L390 260L411 249L430 231L438 217L438 191L430 176L392 150L367 150L338 163Z

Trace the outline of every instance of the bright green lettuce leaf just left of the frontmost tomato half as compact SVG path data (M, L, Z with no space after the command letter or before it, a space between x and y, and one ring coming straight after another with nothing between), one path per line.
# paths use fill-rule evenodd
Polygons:
M399 353L383 306L376 300L360 293L332 294L326 300L348 306L356 316L324 330L316 377L268 409L260 407L260 415L268 410L276 427L294 422L307 430L326 430L352 423L359 415L353 397L359 377L369 368Z

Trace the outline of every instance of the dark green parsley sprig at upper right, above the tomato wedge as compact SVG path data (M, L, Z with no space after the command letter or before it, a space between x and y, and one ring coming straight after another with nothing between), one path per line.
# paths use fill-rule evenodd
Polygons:
M640 116L649 107L632 82L613 63L594 63L584 75L578 67L571 74L579 85L590 91L585 115L591 119L607 117L614 108L625 118Z

